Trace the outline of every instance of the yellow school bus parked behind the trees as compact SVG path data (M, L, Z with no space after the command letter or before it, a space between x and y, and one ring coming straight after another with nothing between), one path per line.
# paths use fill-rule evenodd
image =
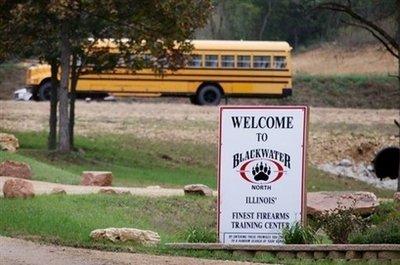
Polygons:
M184 68L156 75L117 68L79 77L77 93L115 96L186 96L199 105L218 105L223 97L268 97L292 94L292 67L287 42L194 40ZM40 100L49 97L50 67L28 69L27 85Z

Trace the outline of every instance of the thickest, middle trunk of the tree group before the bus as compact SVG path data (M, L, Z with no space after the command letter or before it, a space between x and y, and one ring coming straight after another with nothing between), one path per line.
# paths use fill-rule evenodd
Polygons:
M67 35L67 25L61 26L61 79L60 79L60 106L59 106L59 143L58 150L60 152L70 152L69 138L69 118L68 118L68 87L69 87L69 71L71 61L71 47Z

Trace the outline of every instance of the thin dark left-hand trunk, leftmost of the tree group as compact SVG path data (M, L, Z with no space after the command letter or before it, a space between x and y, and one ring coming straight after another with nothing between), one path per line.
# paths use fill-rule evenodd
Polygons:
M51 66L51 94L50 94L50 118L49 118L49 138L48 149L55 150L57 148L57 89L58 89L58 63L53 60Z

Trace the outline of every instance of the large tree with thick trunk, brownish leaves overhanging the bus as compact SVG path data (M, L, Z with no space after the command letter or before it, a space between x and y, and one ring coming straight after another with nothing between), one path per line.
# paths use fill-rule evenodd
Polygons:
M41 42L54 43L52 50L56 51L55 61L59 62L61 70L58 90L60 152L71 150L73 126L70 124L73 125L74 104L69 107L70 76L77 78L83 67L77 67L78 60L74 56L91 53L87 49L90 38L108 39L119 51L119 60L109 61L113 56L99 57L91 60L94 64L87 65L88 70L115 67L121 59L125 67L140 69L146 65L143 54L147 52L155 58L151 64L155 71L175 70L183 65L185 53L192 49L187 39L193 36L197 27L205 24L211 9L209 0L3 0L0 3L1 30L6 33L7 47L12 51L22 54L12 45L21 39L28 39L23 42L39 47L42 47ZM42 23L51 29L48 32L38 30ZM13 30L19 34L12 34ZM7 50L2 47L1 51ZM29 48L24 50L30 52ZM50 63L45 54L43 49L32 53ZM75 58L73 64L71 58ZM85 60L86 63L89 61ZM72 85L76 86L76 82Z

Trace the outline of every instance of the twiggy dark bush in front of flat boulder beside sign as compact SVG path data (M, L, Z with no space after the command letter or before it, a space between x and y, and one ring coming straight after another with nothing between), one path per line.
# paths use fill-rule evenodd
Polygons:
M357 215L353 207L338 205L333 211L326 211L316 217L316 222L334 244L345 244L349 235L366 228L366 221Z

